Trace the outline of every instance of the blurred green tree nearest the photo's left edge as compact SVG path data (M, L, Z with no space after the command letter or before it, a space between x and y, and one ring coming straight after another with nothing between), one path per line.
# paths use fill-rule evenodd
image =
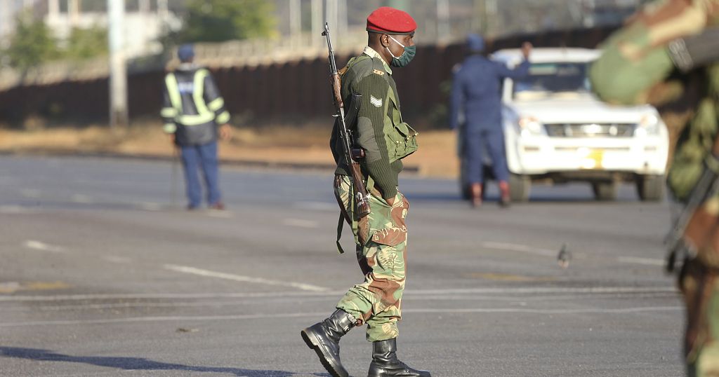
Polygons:
M3 55L11 67L27 70L55 59L60 54L58 42L52 37L52 32L45 22L25 13L17 17L15 33Z

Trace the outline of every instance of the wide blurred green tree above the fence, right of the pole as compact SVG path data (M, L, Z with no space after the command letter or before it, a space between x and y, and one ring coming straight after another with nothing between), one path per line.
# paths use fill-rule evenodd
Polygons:
M274 4L265 0L189 0L183 42L224 42L275 35Z

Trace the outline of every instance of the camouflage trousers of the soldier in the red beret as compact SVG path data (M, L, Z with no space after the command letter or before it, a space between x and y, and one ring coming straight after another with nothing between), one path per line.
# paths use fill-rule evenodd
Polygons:
M334 193L345 218L357 220L352 208L352 180L336 175ZM357 239L357 261L365 281L355 284L336 305L348 312L357 325L367 324L370 342L397 338L401 319L401 300L405 286L409 202L400 192L389 205L377 192L370 192L370 215L357 220L353 229Z

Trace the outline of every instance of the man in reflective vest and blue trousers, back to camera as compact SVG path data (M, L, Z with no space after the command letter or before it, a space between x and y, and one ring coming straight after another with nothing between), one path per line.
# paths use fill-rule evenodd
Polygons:
M198 169L202 169L209 208L223 210L219 190L217 139L229 139L229 113L209 70L193 63L192 45L178 49L180 66L165 76L162 120L165 133L182 153L188 210L201 205Z

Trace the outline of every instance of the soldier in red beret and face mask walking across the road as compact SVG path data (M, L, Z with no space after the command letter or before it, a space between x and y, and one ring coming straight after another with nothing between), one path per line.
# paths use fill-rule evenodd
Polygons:
M341 94L348 104L361 95L355 119L347 124L360 159L362 175L370 192L370 215L357 217L354 187L349 167L342 159L342 141L334 125L330 146L338 167L334 191L347 223L353 225L357 261L365 281L356 284L336 304L326 320L302 330L308 347L313 348L332 376L348 376L339 359L339 338L352 327L367 325L372 342L372 363L368 376L430 376L398 360L397 322L401 318L401 299L406 279L407 227L409 202L398 191L401 159L417 149L416 131L402 119L395 81L395 68L407 65L415 53L416 22L404 11L381 7L367 17L368 46L349 60L342 75ZM339 243L338 243L339 245Z

